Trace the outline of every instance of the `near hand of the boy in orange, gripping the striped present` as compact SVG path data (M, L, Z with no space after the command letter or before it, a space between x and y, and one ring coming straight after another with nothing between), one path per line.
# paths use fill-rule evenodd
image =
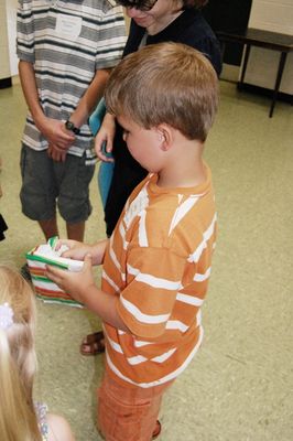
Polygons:
M56 267L46 266L45 275L53 280L61 289L70 294L74 300L85 303L89 289L95 280L91 270L91 256L86 255L82 271L72 272Z

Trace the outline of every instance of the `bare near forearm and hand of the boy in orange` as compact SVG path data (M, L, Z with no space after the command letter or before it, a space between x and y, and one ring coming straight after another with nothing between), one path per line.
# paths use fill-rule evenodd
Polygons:
M85 257L84 268L79 272L64 271L55 267L46 267L46 276L59 288L68 292L73 299L83 303L111 326L130 333L117 312L117 295L108 294L95 286L91 271L91 256Z

